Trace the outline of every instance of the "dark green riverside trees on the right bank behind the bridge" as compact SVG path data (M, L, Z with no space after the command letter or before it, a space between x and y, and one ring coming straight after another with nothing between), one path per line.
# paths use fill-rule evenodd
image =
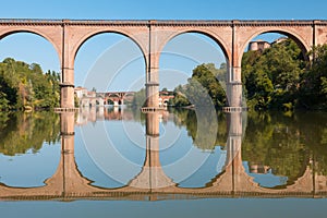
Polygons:
M197 65L187 83L174 88L170 105L227 106L226 74L226 63L219 69L213 63ZM242 83L247 107L254 110L325 110L327 45L314 47L305 56L292 39L272 44L263 51L247 51L242 59ZM142 92L137 96L145 98Z

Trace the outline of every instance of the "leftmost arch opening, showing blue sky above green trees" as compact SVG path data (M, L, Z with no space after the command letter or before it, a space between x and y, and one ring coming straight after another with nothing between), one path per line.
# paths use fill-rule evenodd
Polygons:
M60 105L60 58L46 36L32 31L9 32L1 36L0 50L1 99L5 102L1 110Z

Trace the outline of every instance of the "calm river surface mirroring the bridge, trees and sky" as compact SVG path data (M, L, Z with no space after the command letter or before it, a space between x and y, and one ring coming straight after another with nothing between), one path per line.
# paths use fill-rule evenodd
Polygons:
M323 217L327 113L0 113L1 217Z

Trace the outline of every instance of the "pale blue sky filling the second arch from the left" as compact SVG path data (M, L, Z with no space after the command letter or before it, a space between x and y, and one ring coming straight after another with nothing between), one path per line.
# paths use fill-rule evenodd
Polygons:
M135 89L135 81L146 72L146 59L137 41L124 33L109 31L83 39L74 65L75 83L97 92Z

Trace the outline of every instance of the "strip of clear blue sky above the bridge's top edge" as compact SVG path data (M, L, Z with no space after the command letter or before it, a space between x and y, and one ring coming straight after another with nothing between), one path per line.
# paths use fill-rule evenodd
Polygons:
M1 2L1 16L146 20L327 19L326 8L325 0L15 0Z

